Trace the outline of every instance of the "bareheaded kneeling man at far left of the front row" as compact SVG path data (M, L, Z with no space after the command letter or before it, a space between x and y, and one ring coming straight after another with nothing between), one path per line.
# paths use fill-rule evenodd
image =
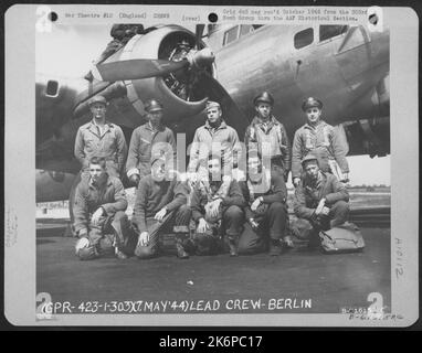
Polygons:
M106 160L89 160L89 178L76 188L73 207L75 232L80 239L76 255L94 259L114 248L116 256L126 258L129 221L125 214L127 201L120 180L106 172Z

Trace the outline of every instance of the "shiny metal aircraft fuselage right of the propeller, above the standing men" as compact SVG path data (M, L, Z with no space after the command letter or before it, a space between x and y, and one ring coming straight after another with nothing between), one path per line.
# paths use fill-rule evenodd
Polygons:
M313 42L295 47L295 35L312 29ZM350 33L351 32L351 33ZM376 87L389 73L389 33L359 26L319 41L319 26L265 25L215 51L217 78L251 119L253 98L268 90L274 115L289 135L306 122L302 101L316 96L333 125L376 118L381 110Z

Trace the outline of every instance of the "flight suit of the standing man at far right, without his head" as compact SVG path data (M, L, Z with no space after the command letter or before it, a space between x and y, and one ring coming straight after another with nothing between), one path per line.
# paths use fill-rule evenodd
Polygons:
M308 153L317 157L319 168L330 172L330 162L337 161L342 173L349 172L347 148L341 143L334 127L320 120L315 127L305 124L295 132L292 150L292 179L300 178L302 160Z

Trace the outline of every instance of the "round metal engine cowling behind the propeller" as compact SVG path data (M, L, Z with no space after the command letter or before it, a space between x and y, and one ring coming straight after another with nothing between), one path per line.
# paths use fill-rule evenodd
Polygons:
M178 25L157 28L147 34L131 38L126 46L113 54L107 62L139 58L173 60L175 51L182 41L193 47L196 41L194 34ZM202 47L204 46L203 43L201 45ZM215 69L213 64L203 69L214 76ZM110 99L110 106L107 109L110 120L118 125L134 128L144 121L146 114L144 103L150 98L158 98L163 104L163 122L175 128L186 118L201 114L205 106L207 94L204 90L198 89L194 92L194 95L189 97L184 97L180 93L180 87L183 85L188 86L189 82L194 79L191 75L194 75L194 72L187 68L165 77L110 83L106 87L102 86L98 92L94 89L91 95L87 94L85 101L76 107L75 117L81 117L88 113L87 99L91 96L103 94L106 98ZM118 85L118 90L114 89L116 85ZM122 89L122 86L125 89ZM120 94L116 94L116 92Z

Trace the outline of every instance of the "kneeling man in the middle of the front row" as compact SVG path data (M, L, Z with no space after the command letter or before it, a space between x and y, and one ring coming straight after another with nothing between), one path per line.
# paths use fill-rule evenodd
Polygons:
M192 218L197 223L194 243L198 255L217 254L225 236L230 255L236 256L236 243L244 222L244 199L238 181L223 175L220 156L209 156L208 180L200 180L191 197Z

